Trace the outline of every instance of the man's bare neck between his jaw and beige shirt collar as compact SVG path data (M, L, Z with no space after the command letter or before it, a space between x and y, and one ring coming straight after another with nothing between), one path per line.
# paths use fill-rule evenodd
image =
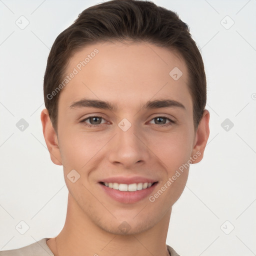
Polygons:
M71 210L72 209L72 210ZM85 215L68 193L65 224L55 241L47 243L54 255L169 255L166 236L171 210L152 228L140 233L113 234L100 228ZM54 244L53 244L54 242Z

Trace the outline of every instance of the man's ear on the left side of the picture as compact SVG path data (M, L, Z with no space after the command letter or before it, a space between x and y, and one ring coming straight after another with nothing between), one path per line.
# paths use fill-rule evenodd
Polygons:
M62 165L60 150L58 147L58 138L54 128L52 127L49 113L46 108L41 111L41 123L44 140L50 153L50 159L53 163Z

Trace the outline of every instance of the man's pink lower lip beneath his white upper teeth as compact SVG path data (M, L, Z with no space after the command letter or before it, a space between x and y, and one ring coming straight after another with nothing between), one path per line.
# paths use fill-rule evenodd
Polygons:
M107 195L109 195L114 200L122 203L135 203L148 197L152 193L156 184L157 182L155 182L150 187L136 191L120 191L99 183L99 185Z

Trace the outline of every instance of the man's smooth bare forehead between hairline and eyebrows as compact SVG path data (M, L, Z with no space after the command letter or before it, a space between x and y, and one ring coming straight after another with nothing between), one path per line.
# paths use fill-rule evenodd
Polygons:
M89 97L130 106L165 97L192 105L185 62L174 51L148 42L86 46L70 58L66 75L72 78L59 98L66 103Z

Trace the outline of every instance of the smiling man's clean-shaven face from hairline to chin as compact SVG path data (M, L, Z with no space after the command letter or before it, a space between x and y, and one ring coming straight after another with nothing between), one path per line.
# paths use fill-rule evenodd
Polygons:
M76 52L71 72L59 96L57 136L71 198L103 230L145 231L170 213L188 164L202 154L187 67L165 48L109 42Z

